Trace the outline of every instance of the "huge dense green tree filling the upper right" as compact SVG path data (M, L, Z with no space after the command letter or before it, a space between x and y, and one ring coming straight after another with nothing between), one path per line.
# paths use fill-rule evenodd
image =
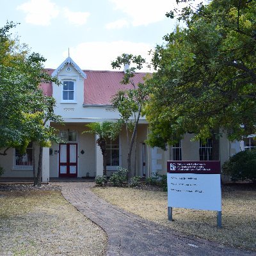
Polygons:
M212 137L218 159L223 131L230 140L256 132L256 2L212 0L177 17L186 26L164 36L152 58L148 142L164 148L193 132Z

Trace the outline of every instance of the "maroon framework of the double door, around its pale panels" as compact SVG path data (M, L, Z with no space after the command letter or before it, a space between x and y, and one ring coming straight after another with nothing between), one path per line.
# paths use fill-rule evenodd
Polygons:
M67 164L63 164L60 162L60 156L61 156L61 145L67 145ZM70 145L76 145L76 163L71 163L69 162L70 158ZM59 159L58 159L58 174L59 177L77 177L78 174L78 163L77 163L77 150L78 150L78 144L77 143L60 143L59 144ZM60 173L60 167L61 166L67 166L67 173ZM76 166L76 173L70 173L70 166Z

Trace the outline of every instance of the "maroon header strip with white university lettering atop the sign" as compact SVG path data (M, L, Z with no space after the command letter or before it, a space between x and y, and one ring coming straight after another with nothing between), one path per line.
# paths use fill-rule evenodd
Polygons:
M220 161L167 161L167 172L220 174Z

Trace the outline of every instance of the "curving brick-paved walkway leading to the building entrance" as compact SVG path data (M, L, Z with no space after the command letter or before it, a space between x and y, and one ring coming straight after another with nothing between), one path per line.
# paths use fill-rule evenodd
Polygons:
M107 203L90 191L92 182L61 182L63 196L108 235L106 255L255 255L184 236ZM167 218L167 216L166 216Z

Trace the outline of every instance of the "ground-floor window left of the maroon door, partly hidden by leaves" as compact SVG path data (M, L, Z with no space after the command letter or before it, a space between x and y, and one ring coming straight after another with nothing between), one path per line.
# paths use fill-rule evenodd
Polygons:
M33 143L30 142L24 154L15 149L14 169L33 170Z

